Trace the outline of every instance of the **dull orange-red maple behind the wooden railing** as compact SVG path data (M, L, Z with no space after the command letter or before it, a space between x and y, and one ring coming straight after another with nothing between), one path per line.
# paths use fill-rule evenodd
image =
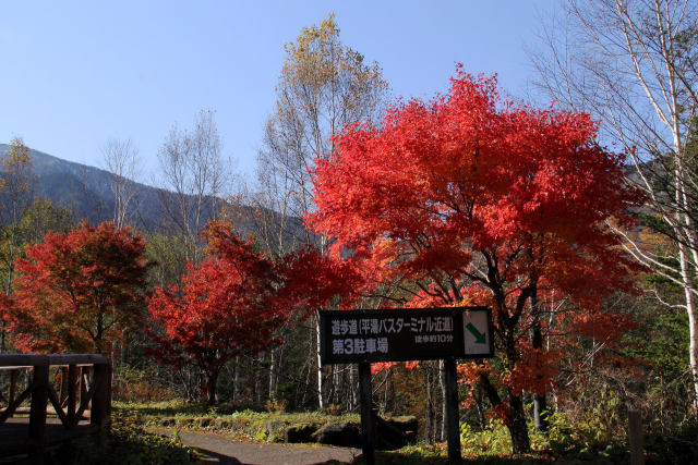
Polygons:
M0 298L20 351L106 353L140 326L149 264L130 228L83 222L68 234L49 232L25 254L15 260L13 292Z

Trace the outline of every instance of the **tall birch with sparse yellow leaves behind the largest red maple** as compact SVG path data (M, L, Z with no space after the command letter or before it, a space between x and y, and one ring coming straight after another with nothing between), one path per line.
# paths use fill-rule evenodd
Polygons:
M346 124L374 120L387 89L381 68L365 63L361 53L341 44L334 14L318 26L303 28L296 41L286 45L276 105L257 157L260 193L255 197L262 225L257 231L275 256L303 244L324 249L324 237L300 223L314 208L308 168L315 156L333 156L332 136ZM322 408L320 360L316 366Z

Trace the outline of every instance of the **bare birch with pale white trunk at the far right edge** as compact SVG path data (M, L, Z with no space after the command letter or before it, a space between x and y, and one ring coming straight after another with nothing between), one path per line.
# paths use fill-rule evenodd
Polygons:
M546 52L532 56L538 85L562 105L589 111L633 160L666 256L637 232L615 229L638 261L682 290L698 400L696 284L698 176L698 4L695 0L567 0L544 28ZM696 402L694 403L696 405Z

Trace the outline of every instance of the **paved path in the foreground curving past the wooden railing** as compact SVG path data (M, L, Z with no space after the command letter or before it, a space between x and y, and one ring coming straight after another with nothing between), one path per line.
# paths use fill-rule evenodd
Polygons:
M154 428L153 432L170 436L170 428ZM219 464L325 464L351 463L361 454L358 449L311 444L256 444L242 442L222 433L178 430L182 442L202 452L204 463Z

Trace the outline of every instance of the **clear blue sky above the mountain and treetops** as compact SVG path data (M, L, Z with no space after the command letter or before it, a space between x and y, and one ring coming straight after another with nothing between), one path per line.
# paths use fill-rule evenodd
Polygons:
M498 73L526 97L539 16L552 0L5 1L0 3L0 143L91 166L129 137L142 181L172 124L216 110L224 152L252 176L284 45L330 12L341 40L383 68L395 96L445 91L455 63Z

